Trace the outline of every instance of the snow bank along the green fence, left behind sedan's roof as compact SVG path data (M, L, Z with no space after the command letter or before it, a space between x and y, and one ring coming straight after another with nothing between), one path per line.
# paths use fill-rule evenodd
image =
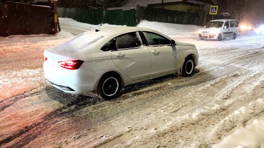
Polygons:
M120 25L115 25L115 24L108 24L108 23L100 23L98 25L94 24L89 24L89 23L82 23L78 22L72 18L59 18L59 23L62 26L69 26L69 27L75 27L75 28L82 28L86 30L93 30L97 28L105 28L105 27L116 27Z

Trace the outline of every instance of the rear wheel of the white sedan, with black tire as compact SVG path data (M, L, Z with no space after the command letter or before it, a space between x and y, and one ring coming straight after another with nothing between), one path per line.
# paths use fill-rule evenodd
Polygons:
M98 96L104 100L111 100L118 97L120 90L120 76L115 73L106 74L97 85Z

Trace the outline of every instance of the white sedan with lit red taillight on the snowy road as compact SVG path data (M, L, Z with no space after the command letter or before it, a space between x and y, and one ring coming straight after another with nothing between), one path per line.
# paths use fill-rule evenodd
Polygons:
M158 31L112 27L48 48L44 59L50 85L72 94L93 92L109 100L129 84L172 73L193 75L199 53L193 44L175 42Z

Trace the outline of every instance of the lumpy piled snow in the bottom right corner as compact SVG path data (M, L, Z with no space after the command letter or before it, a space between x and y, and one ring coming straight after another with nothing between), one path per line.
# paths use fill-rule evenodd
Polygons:
M264 111L264 100L258 99L250 103L249 107L241 107L222 121L222 126L233 127L243 125L247 120ZM213 146L217 147L264 147L264 114L255 119L245 128L240 128L234 134Z

